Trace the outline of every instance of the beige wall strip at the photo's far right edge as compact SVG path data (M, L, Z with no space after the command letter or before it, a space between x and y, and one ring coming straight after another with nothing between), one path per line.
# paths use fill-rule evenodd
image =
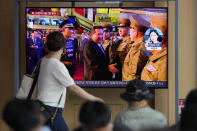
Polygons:
M196 81L196 0L179 0L179 99Z

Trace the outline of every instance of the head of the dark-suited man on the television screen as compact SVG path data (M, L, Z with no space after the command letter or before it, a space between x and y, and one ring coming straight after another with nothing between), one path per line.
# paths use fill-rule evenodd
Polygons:
M103 27L93 26L91 31L91 38L95 43L101 43L103 41Z

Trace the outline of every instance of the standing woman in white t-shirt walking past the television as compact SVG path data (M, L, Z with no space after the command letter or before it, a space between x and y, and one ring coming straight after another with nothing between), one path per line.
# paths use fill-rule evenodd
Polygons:
M103 101L77 86L69 75L67 68L60 62L65 46L65 38L60 32L52 32L47 36L46 48L48 54L41 60L38 77L37 99L42 101L54 113L58 108L53 121L57 131L68 131L62 117L62 109L66 101L67 89L82 99L90 101ZM61 97L62 96L62 97ZM60 99L61 98L61 99ZM60 103L58 104L58 101Z

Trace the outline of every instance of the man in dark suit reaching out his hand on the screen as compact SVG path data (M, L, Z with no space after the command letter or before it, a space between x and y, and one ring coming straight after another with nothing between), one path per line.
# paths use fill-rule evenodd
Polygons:
M102 26L93 26L91 39L84 48L84 79L85 80L111 80L112 73L118 70L116 64L109 65L108 54L102 48Z

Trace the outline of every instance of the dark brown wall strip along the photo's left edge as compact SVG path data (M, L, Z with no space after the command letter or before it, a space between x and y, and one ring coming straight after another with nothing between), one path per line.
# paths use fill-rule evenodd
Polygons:
M3 0L0 4L0 127L7 131L3 123L2 109L4 104L14 95L14 2Z

